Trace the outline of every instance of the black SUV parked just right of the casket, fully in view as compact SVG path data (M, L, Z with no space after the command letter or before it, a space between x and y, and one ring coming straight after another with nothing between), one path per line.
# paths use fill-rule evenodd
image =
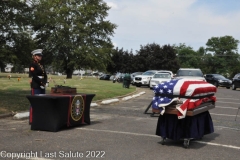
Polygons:
M211 83L216 87L220 86L229 89L232 86L232 81L220 74L206 74L205 78L208 83Z

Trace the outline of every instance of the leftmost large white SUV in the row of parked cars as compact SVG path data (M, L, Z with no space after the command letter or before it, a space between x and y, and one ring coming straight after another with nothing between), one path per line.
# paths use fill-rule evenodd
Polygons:
M157 72L158 72L157 70L149 70L144 72L142 75L137 75L133 79L133 84L136 85L137 87L149 86L151 78Z

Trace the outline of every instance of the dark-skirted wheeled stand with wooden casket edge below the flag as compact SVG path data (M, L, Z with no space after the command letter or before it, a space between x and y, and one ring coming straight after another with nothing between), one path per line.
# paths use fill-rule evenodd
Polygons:
M176 107L179 102L174 101L165 107L165 113L159 115L156 135L162 137L162 144L166 139L184 139L184 147L188 148L191 139L202 139L206 134L214 132L210 109L215 108L214 101L204 102L192 110L187 110L186 117L178 119ZM153 113L160 111L152 108Z

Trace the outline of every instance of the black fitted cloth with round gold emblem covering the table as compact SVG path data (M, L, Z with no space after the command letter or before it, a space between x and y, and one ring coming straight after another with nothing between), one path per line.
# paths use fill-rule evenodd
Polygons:
M31 130L56 132L63 127L90 124L90 105L95 94L27 96L32 106Z

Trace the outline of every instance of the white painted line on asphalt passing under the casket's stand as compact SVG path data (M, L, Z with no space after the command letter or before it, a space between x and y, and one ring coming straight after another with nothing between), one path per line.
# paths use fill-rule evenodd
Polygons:
M121 132L121 131L111 131L111 130L99 130L99 129L91 129L91 128L76 128L76 129L86 130L86 131L95 131L95 132L128 134L128 135L135 135L135 136L159 137L157 135L151 135L151 134L141 134L141 133ZM213 145L213 146L221 146L221 147L232 148L232 149L240 149L240 147L232 146L232 145L225 145L225 144L218 144L218 143L211 143L211 142L203 142L203 141L193 141L193 142L208 144L208 145Z

